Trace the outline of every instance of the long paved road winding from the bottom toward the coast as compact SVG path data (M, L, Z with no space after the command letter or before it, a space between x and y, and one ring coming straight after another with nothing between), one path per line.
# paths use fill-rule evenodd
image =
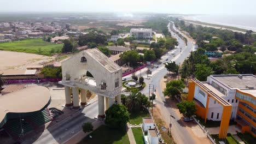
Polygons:
M193 49L192 45L190 44L191 42L188 41L188 45L185 44L185 41L183 41L181 38L178 37L177 34L174 34L171 29L170 25L168 25L168 29L171 32L172 36L177 38L178 40L178 48L174 50L173 52L175 53L175 57L166 55L164 58L168 58L168 60L175 61L178 64L182 64L185 58L189 56L189 53L191 49ZM180 50L181 48L181 50ZM162 61L165 61L163 59ZM172 128L171 128L171 133L176 140L177 143L196 143L195 137L189 133L188 129L186 128L186 125L181 122L181 118L177 115L176 112L173 111L173 109L165 105L165 99L164 99L164 94L162 94L162 87L160 80L164 75L166 75L167 70L164 68L164 65L159 65L159 70L155 69L153 70L153 76L152 79L147 79L145 82L147 83L147 87L144 88L142 93L148 95L149 89L148 89L148 84L153 84L155 85L156 88L156 93L158 93L158 99L155 100L156 104L160 106L161 112L164 114L164 118L166 119L166 122L169 123L171 121L170 115L172 115L174 118L172 118ZM144 73L143 73L143 76Z

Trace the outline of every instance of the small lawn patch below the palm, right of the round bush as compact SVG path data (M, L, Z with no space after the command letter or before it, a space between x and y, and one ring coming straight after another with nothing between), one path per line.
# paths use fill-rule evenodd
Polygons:
M142 118L143 117L150 117L148 110L141 110L139 112L132 112L130 115L130 120L129 122L134 125L134 124L139 124L142 123Z

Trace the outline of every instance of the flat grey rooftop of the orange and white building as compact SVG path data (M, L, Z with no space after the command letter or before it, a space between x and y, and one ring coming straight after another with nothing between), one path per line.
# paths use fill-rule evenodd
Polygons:
M242 75L241 79L238 75L211 75L211 77L230 88L256 88L256 76L252 74Z

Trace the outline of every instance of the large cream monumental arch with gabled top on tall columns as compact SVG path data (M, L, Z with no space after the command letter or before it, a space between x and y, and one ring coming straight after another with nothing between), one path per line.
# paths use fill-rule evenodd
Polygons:
M98 117L105 117L105 110L116 101L121 104L122 71L98 49L88 49L62 62L62 81L65 86L66 106L79 109L79 88L81 105L86 105L86 91L98 95ZM87 72L93 77L89 77ZM71 90L72 88L72 90ZM71 91L73 99L71 99ZM106 106L105 106L106 104Z

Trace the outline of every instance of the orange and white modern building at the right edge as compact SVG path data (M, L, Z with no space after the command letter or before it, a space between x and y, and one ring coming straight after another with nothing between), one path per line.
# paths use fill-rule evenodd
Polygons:
M188 100L195 101L196 114L205 122L220 121L219 138L226 137L230 120L255 136L255 88L255 75L211 75L206 82L191 79Z

